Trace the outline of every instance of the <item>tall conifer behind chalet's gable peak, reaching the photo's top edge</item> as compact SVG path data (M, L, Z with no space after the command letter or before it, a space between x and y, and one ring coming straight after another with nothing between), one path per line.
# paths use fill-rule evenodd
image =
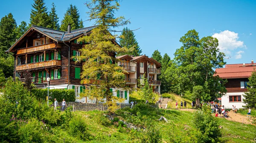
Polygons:
M48 15L44 0L34 0L34 2L35 3L32 5L34 9L31 9L29 26L38 25L51 28L51 19Z

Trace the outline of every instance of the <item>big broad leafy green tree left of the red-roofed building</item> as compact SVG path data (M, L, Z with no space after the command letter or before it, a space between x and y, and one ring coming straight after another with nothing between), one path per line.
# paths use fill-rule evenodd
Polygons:
M200 106L200 99L212 101L227 90L225 81L215 76L213 69L223 67L225 54L219 52L218 39L212 36L199 38L195 30L180 38L182 46L175 52L175 66L172 72L178 94L190 95ZM219 93L220 92L220 93ZM195 94L197 93L197 94Z

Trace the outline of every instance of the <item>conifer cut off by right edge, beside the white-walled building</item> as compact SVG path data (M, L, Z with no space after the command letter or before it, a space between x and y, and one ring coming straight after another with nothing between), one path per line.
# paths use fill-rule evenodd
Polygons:
M245 107L255 108L256 107L256 71L252 72L252 76L249 78L247 90L245 93L243 102L246 104Z

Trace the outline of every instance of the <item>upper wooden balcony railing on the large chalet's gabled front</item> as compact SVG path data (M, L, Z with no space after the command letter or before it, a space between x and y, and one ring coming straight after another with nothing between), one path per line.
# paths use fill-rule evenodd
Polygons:
M61 45L56 44L56 43L50 43L50 44L45 44L45 45L23 48L23 49L17 50L17 55L23 54L23 53L31 53L31 52L41 51L41 50L52 49L52 48L56 48L56 47L57 48L61 47Z

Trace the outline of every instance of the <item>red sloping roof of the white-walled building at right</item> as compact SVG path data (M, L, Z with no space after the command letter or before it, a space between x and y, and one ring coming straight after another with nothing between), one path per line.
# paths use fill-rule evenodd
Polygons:
M256 69L255 66L237 67L238 65L240 64L237 64L235 67L227 67L226 65L226 68L218 68L215 70L215 75L218 75L221 79L249 78L253 70Z

